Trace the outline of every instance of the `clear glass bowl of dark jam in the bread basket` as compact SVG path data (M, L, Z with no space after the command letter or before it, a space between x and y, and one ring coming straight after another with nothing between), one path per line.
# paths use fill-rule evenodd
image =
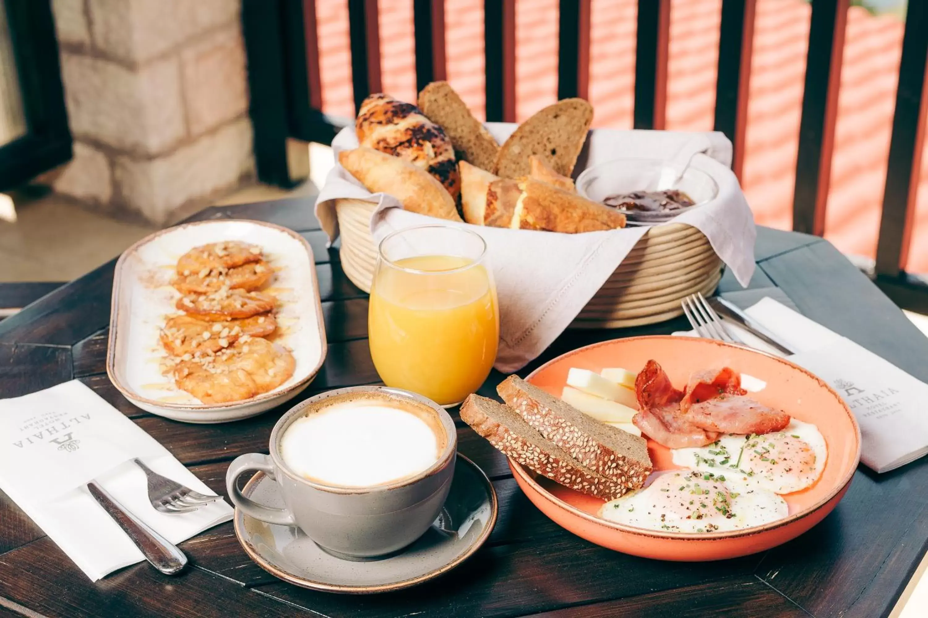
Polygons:
M712 176L692 165L676 183L662 183L675 175L660 159L617 158L584 170L576 187L580 195L625 213L629 224L638 225L670 221L718 195Z

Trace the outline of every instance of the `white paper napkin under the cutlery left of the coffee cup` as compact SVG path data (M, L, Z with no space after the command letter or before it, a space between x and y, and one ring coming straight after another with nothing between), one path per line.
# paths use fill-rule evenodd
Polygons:
M148 501L145 473L132 459L195 491L213 491L154 438L74 380L0 400L0 489L92 581L145 560L85 488L96 480L172 543L232 519L223 500L168 515Z

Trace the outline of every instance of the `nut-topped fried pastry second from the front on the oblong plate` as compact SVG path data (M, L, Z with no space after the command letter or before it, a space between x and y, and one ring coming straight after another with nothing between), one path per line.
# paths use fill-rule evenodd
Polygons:
M161 346L168 354L183 357L197 351L218 352L244 335L266 337L277 329L274 315L267 313L243 320L204 322L188 315L175 316L161 329Z

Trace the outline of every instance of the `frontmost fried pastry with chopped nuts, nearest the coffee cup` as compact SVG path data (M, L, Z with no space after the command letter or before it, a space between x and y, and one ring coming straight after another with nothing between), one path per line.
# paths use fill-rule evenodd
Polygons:
M246 335L215 354L182 360L174 367L174 379L178 388L203 403L226 403L274 390L295 368L290 351Z

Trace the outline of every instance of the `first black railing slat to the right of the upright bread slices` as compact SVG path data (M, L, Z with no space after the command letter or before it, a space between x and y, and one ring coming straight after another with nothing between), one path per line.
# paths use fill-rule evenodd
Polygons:
M636 129L663 129L667 94L670 0L638 0L635 47Z

